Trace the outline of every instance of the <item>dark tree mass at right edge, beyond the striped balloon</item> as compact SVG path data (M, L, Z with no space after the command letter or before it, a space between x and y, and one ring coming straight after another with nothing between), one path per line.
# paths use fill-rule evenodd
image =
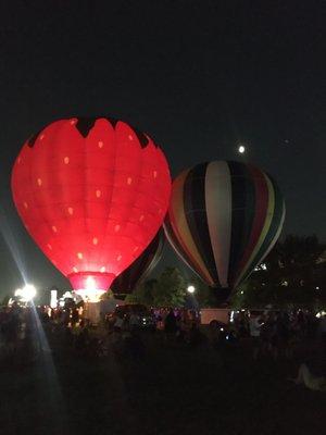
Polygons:
M237 288L231 304L237 308L325 306L326 263L319 261L324 251L325 245L316 236L287 236L271 251L264 266L256 268Z

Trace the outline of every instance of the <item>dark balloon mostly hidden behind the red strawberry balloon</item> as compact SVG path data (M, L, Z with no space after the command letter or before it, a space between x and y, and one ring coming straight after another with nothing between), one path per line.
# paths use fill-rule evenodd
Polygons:
M114 294L131 293L137 284L145 279L160 261L164 240L164 231L160 229L141 256L114 279L110 287L111 290Z

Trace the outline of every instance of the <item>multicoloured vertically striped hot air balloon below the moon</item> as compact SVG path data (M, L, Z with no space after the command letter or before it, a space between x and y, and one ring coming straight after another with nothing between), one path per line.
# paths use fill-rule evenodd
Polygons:
M176 177L164 228L181 259L210 286L235 288L275 245L285 203L274 179L233 161Z

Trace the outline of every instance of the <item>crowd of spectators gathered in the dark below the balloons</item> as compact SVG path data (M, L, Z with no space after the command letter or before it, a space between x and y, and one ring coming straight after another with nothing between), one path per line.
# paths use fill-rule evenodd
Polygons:
M104 357L130 353L141 358L145 352L145 331L154 331L155 339L163 344L188 348L201 345L224 348L249 343L253 359L271 357L290 359L296 346L304 340L321 337L326 349L326 316L317 319L311 312L239 311L228 324L218 321L203 327L200 313L186 309L158 308L135 312L115 310L91 324L83 306L63 308L21 307L13 303L0 311L0 359L13 362L34 361L41 350L39 330L46 331L50 340L59 338L68 343L80 357ZM151 322L145 322L145 315ZM141 322L143 321L143 323Z

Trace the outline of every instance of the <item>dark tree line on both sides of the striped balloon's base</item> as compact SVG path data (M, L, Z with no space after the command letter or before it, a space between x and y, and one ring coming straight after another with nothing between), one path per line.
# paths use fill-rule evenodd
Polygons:
M195 286L193 295L187 293ZM316 236L289 235L233 293L234 308L326 308L326 245ZM156 278L142 282L128 302L149 307L214 307L218 288L210 288L195 274L186 278L177 268L166 268Z

